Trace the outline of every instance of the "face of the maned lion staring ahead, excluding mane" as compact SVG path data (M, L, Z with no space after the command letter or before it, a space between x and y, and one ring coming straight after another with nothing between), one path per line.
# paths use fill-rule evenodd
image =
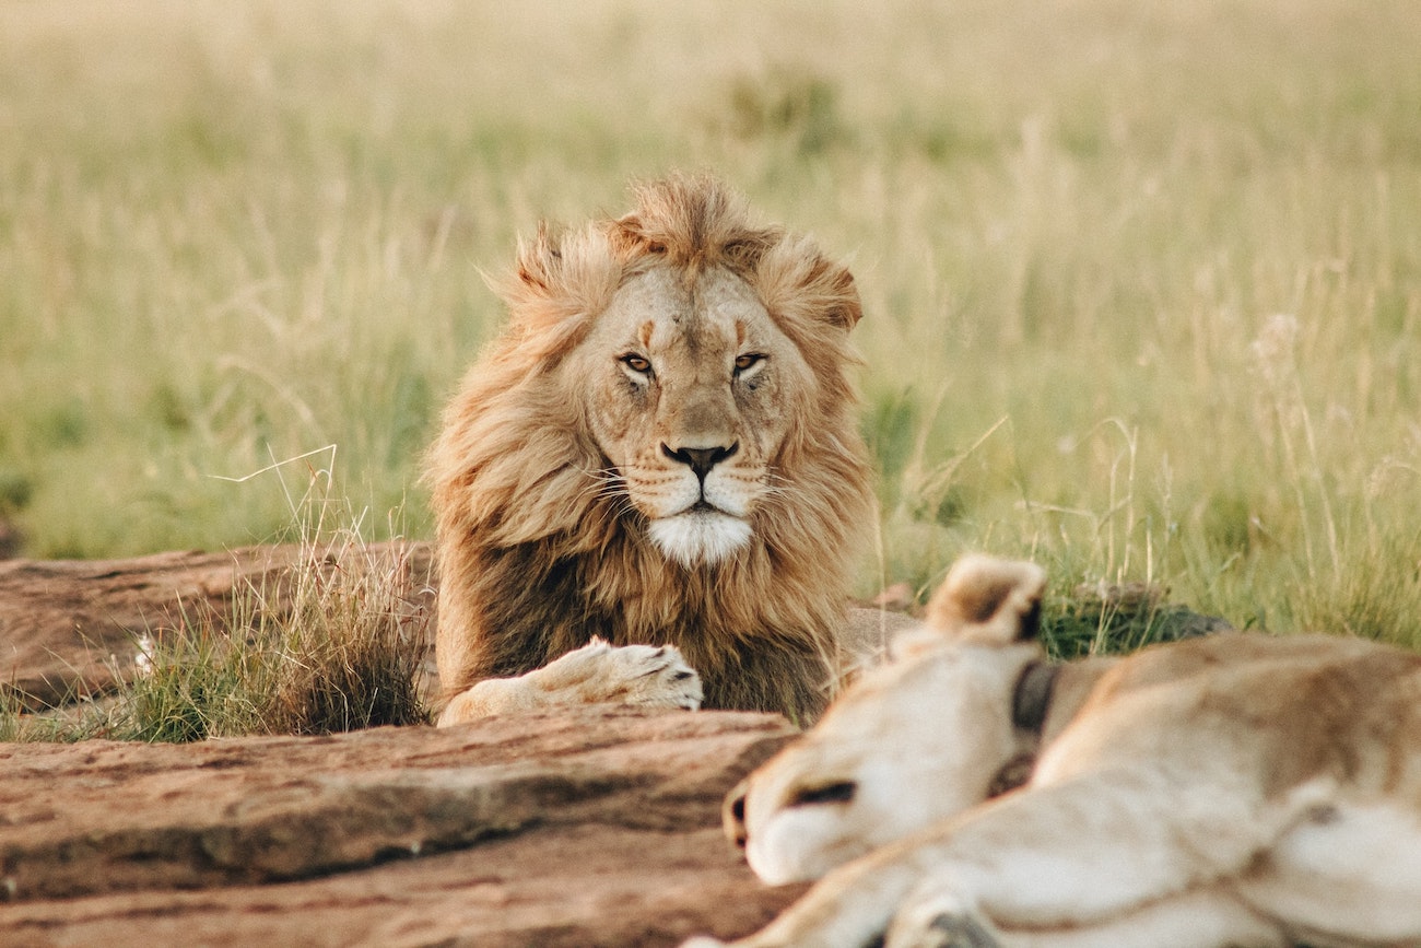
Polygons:
M597 446L684 566L750 542L756 505L813 379L791 340L735 273L654 266L617 290L570 360L587 379Z

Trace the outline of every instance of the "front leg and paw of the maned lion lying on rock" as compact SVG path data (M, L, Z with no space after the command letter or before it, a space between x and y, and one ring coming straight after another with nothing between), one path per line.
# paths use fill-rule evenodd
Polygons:
M517 678L473 685L439 715L445 728L489 715L570 705L701 706L701 675L672 645L608 645L594 638L543 668Z

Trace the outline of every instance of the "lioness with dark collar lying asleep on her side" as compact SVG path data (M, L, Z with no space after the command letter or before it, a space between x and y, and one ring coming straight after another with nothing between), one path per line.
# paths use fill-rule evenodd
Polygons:
M959 563L939 641L732 793L762 877L828 873L736 945L1421 945L1421 655L1226 632L1049 665L1042 586Z

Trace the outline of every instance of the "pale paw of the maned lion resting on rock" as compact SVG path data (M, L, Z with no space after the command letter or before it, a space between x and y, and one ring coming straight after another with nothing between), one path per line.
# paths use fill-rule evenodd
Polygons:
M695 711L701 675L674 645L608 645L594 638L534 672L549 696L568 704L618 704Z

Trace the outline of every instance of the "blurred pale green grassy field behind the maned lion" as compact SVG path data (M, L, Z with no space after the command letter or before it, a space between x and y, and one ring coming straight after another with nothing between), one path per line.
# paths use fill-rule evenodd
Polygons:
M858 277L860 591L988 549L1421 644L1418 37L1412 0L3 1L0 520L263 542L310 465L425 534L480 269L706 168Z

